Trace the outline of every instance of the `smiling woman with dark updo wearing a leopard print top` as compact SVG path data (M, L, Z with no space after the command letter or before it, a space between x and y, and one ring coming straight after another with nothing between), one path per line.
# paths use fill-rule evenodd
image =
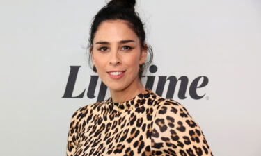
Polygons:
M93 19L90 58L111 97L74 112L67 155L212 155L187 110L141 84L152 51L134 6L112 0Z

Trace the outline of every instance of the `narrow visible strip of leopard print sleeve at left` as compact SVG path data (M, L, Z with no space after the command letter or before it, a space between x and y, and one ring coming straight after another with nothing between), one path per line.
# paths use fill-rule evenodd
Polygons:
M74 155L75 151L77 150L78 146L78 131L79 131L79 108L72 114L72 118L70 121L70 128L68 132L68 141L66 147L66 155L72 156Z

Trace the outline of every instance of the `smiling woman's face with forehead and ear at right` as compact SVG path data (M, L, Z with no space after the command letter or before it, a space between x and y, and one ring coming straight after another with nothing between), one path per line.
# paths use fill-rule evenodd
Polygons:
M140 83L139 64L147 51L127 21L103 21L93 39L92 60L102 82L114 91Z

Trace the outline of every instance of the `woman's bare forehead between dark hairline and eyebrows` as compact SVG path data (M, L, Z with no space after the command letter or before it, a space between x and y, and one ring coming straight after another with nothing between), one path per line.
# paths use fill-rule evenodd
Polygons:
M139 40L134 33L131 24L125 20L107 20L102 21L95 33L95 40L109 40L111 42L117 40Z

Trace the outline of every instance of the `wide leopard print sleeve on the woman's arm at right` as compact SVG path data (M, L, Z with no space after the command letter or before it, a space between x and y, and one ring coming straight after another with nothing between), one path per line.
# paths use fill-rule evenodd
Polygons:
M154 155L212 155L205 136L184 106L171 99L161 102L152 127Z

